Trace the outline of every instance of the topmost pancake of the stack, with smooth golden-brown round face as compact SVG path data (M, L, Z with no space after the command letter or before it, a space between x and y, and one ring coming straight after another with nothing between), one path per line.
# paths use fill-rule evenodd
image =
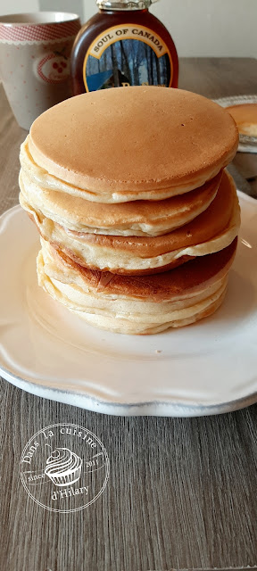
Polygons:
M237 144L235 121L202 95L114 88L40 115L24 161L44 188L100 203L160 200L203 186L233 159Z

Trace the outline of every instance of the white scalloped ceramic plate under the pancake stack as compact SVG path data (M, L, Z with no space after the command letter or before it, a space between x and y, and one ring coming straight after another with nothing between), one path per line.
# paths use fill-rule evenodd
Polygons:
M158 335L87 326L37 285L37 230L0 218L0 373L38 396L112 415L188 417L257 401L257 202L239 193L241 239L213 316Z

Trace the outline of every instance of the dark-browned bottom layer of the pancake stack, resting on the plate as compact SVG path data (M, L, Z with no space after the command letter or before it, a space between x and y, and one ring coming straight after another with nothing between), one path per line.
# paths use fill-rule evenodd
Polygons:
M158 333L195 323L218 309L236 242L160 276L123 277L84 269L41 239L38 282L96 327L129 335Z

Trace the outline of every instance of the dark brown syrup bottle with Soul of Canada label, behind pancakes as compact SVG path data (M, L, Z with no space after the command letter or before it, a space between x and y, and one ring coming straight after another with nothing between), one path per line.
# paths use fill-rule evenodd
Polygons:
M170 33L148 12L158 0L96 0L99 12L80 29L71 53L73 95L109 87L178 87Z

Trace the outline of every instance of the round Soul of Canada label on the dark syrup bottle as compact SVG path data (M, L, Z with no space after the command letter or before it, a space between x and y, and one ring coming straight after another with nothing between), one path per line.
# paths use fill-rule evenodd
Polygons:
M162 37L137 24L113 26L95 37L83 63L86 91L108 87L170 87L173 64Z

